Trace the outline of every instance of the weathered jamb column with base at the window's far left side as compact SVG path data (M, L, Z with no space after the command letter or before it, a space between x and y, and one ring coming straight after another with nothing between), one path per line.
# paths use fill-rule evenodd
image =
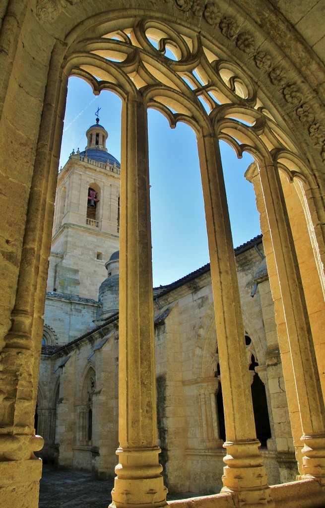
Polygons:
M26 215L21 214L25 228L11 327L1 353L0 489L6 506L38 505L42 461L34 452L42 449L43 438L35 435L34 415L57 177L54 152L60 147L68 79L61 77L60 69L65 50L57 43L51 55L37 149L30 161L34 166L28 168L31 185L29 190L25 187L28 206ZM20 100L30 97L23 89L19 93Z

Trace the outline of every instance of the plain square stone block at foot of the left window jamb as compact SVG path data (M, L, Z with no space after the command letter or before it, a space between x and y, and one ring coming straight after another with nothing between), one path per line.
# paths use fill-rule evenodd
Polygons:
M41 459L0 462L1 505L38 508L41 475Z

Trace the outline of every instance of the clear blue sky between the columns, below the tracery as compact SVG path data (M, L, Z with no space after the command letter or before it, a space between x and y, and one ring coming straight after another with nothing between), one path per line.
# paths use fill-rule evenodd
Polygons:
M70 78L64 119L60 166L74 148L84 150L85 133L95 122L108 131L107 148L120 160L121 101L112 92L94 96L80 78ZM188 125L170 129L159 112L148 111L149 171L154 286L168 284L209 262L206 222L196 136ZM244 178L252 162L249 154L237 159L220 143L234 246L261 233L253 186Z

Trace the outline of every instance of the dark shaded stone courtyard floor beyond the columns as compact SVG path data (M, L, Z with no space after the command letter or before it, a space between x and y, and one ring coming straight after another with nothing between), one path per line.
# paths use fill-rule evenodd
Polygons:
M107 508L112 501L112 480L92 480L90 473L73 469L57 470L43 465L39 508ZM202 494L169 494L167 499L186 499Z

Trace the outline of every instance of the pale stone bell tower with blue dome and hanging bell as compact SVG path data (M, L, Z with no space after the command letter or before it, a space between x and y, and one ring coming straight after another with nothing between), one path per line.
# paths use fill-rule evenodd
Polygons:
M58 174L47 283L47 291L95 300L105 262L119 248L120 163L99 122Z

